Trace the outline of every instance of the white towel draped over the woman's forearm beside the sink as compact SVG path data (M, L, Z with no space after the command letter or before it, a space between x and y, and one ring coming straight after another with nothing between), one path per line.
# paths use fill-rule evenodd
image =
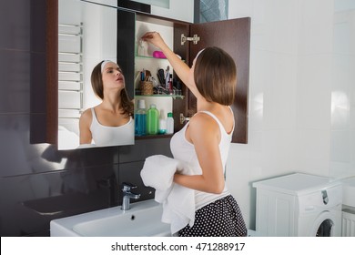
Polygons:
M192 227L195 221L194 190L173 182L176 171L191 174L191 170L174 158L155 155L146 158L140 172L143 183L156 189L155 200L163 204L161 220L170 224L171 233Z

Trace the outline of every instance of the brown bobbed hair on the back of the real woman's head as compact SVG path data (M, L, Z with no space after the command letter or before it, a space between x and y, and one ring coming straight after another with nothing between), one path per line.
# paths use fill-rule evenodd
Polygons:
M231 56L216 46L205 48L196 59L194 79L198 92L209 102L233 104L237 67Z

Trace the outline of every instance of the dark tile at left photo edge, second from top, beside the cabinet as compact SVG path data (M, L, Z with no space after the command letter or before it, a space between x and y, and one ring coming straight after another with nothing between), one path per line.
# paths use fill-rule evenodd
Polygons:
M30 55L0 50L0 114L29 113Z

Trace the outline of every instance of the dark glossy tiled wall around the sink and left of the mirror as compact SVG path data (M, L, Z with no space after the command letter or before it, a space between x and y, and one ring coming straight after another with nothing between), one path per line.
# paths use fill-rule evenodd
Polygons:
M51 219L120 204L123 181L152 199L139 172L148 156L171 156L168 138L66 151L30 143L46 110L46 0L0 1L0 10L0 235L49 236Z

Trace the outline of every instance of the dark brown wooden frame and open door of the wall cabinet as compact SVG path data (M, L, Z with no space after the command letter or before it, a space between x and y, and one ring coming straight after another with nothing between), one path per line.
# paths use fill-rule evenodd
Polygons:
M34 142L57 144L57 0L46 1L46 131L42 138ZM198 51L206 46L219 46L232 56L237 65L237 92L232 106L236 118L236 128L232 142L248 142L248 91L249 91L249 40L250 18L238 18L205 24L192 24L172 20L155 15L137 14L135 12L117 9L117 63L126 76L129 96L134 97L135 62L137 46L137 21L167 27L171 31L171 47L174 52L191 66ZM157 30L159 31L159 30ZM145 31L147 32L147 31ZM182 43L182 35L192 37L198 35L197 44ZM162 66L166 67L166 66ZM174 74L174 78L178 77ZM196 98L182 86L181 99L172 100L175 131L185 123L180 122L180 115L191 117L196 113ZM157 98L158 99L158 98ZM35 122L34 122L34 125Z

